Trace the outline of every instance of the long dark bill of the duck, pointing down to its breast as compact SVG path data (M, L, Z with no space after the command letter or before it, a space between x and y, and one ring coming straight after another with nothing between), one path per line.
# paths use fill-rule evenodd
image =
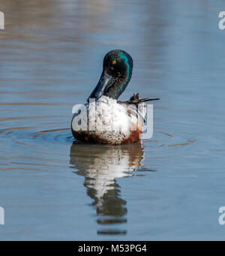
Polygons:
M104 95L104 92L106 92L106 90L112 85L112 83L113 77L107 74L106 71L103 71L97 86L95 87L94 91L91 93L87 101L89 102L90 98L95 98L95 101L97 101L98 98Z

